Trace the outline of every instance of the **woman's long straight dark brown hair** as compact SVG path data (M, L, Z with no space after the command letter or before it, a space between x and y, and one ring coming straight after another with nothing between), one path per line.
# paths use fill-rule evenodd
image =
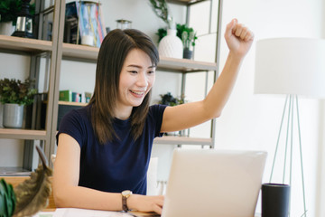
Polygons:
M126 55L133 49L144 51L153 65L157 65L159 61L157 48L146 34L138 30L113 30L107 34L100 46L95 90L88 107L91 109L91 124L100 144L112 141L116 137L113 121L119 78ZM135 139L143 132L150 97L151 90L145 96L143 103L132 111L130 118Z

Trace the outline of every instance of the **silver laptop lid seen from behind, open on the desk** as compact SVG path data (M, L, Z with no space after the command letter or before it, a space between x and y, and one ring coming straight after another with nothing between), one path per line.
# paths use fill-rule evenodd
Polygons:
M163 217L253 217L265 168L261 151L175 149Z

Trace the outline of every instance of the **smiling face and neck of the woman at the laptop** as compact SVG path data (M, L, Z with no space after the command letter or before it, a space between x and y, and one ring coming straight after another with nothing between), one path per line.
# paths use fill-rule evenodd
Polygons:
M138 107L152 89L155 66L150 57L140 49L131 50L120 73L116 118L128 118L133 107Z

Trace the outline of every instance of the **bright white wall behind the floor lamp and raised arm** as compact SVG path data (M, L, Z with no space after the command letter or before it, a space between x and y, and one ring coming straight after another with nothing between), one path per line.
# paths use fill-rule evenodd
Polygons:
M240 23L246 24L253 30L255 42L272 37L320 38L324 25L322 9L321 0L227 0L223 5L223 33L226 24L237 17ZM226 56L227 48L223 40L221 66ZM255 43L242 65L234 92L218 119L216 146L268 151L264 177L264 182L268 182L284 99L254 95L254 70ZM308 216L316 216L316 192L318 191L316 168L320 144L319 102L316 99L301 99L300 114L307 210ZM295 148L297 150L298 147ZM294 158L293 161L295 174L292 183L292 216L301 216L303 212L302 190L299 184L301 178L297 172L300 168L298 159ZM281 181L279 177L276 180ZM260 210L259 206L260 204L257 206L257 211Z

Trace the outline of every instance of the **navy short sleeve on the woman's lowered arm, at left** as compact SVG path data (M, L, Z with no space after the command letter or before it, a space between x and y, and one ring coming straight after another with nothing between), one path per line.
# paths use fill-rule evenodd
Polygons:
M86 135L82 120L83 118L76 109L73 109L66 114L60 121L59 132L56 135L57 145L59 145L59 135L65 133L76 139L79 146L82 146L84 143L82 135Z

